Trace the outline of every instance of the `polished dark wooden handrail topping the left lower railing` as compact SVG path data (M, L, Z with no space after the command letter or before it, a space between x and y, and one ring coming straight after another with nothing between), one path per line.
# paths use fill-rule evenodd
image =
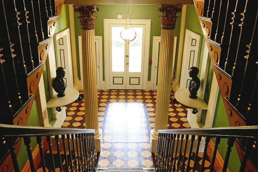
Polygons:
M35 137L62 134L94 133L95 129L29 127L0 124L0 137Z

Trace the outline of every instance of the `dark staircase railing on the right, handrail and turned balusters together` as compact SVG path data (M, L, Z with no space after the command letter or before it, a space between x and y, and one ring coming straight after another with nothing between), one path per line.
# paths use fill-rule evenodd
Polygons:
M243 143L245 153L241 160L239 171L245 171L248 158L257 166L258 156L258 126L251 127L221 127L221 128L198 128L198 129L172 129L158 130L158 148L156 153L156 171L190 171L203 172L205 158L207 157L208 143L214 139L215 146L209 171L214 171L214 163L221 138L228 140L227 152L224 159L222 172L227 170L231 148L235 141ZM190 142L190 143L189 143ZM204 142L203 158L200 169L196 169L200 143ZM190 144L190 145L189 145ZM193 166L190 167L192 153L195 153ZM251 156L252 155L252 156ZM186 158L188 157L188 158ZM185 163L187 161L187 163Z

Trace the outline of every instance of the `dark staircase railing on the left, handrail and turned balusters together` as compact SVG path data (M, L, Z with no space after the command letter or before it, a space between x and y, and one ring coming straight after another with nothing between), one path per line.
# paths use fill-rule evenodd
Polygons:
M46 171L46 163L51 164L52 171L58 164L60 171L87 171L96 170L96 151L94 141L94 129L76 128L48 128L26 127L0 124L1 143L6 150L10 150L14 171L20 171L15 154L15 142L23 139L28 152L31 171L36 171L31 152L31 138L36 137L41 157L42 170ZM61 138L60 138L61 137ZM46 140L48 149L42 149L43 140ZM53 156L53 148L57 149L57 159ZM50 159L45 159L44 154L49 150ZM64 152L64 161L61 160L61 150ZM69 153L68 153L69 152Z

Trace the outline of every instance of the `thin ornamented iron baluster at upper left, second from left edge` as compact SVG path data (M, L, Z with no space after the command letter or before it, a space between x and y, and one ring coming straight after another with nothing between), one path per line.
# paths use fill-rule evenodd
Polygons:
M13 53L14 49L12 47L14 46L14 44L11 43L11 39L10 39L10 34L9 34L9 29L8 29L8 24L7 24L7 19L6 19L6 13L5 13L5 7L4 7L4 0L2 0L2 4L3 4L3 11L4 11L4 18L5 18L7 36L8 36L8 41L9 41L9 44L10 44L10 54L11 54L11 57L12 57L12 68L13 68L13 72L14 72L14 80L15 80L15 86L16 86L16 91L17 91L17 99L19 100L19 103L22 104L22 99L21 99L19 86L18 86L18 81L17 81L16 69L15 69L15 65L14 65L14 58L16 57L16 54Z

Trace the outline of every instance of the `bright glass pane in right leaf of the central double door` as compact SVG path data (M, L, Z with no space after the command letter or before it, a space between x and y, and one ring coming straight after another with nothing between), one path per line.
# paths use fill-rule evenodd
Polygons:
M134 27L133 29L136 31L136 38L129 44L129 72L141 72L143 28Z

